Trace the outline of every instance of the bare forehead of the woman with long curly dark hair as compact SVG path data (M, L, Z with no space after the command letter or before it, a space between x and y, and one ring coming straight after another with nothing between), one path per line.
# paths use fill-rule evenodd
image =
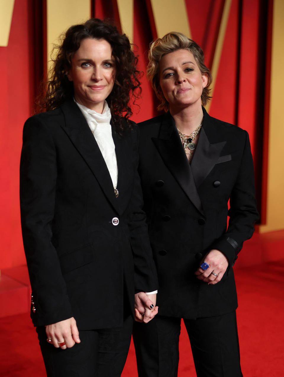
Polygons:
M74 57L100 57L110 59L112 57L111 45L105 39L85 38L81 41L79 49Z

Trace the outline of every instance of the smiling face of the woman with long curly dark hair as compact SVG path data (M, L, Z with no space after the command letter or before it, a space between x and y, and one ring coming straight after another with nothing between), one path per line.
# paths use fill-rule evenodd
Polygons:
M73 81L75 100L98 113L114 86L115 61L104 39L86 38L72 59L67 77Z

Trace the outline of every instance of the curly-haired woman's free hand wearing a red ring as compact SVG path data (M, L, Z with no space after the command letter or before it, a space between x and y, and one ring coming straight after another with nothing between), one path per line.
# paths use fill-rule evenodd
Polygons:
M74 317L46 326L47 341L61 349L71 348L80 343L79 331ZM59 343L62 343L60 345ZM63 344L65 343L65 344Z

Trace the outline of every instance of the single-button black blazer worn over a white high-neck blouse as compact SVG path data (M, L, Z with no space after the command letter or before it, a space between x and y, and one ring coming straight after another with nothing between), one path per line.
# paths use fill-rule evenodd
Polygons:
M119 136L112 125L112 137L118 198L73 100L24 125L21 222L36 326L72 316L79 329L120 326L124 308L134 310L134 289L157 288L141 210L137 126Z

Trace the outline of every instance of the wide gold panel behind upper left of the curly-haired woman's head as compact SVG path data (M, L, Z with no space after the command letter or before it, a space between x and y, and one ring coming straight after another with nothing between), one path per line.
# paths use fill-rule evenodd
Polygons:
M53 43L69 26L81 23L91 17L90 0L47 0L47 59Z

